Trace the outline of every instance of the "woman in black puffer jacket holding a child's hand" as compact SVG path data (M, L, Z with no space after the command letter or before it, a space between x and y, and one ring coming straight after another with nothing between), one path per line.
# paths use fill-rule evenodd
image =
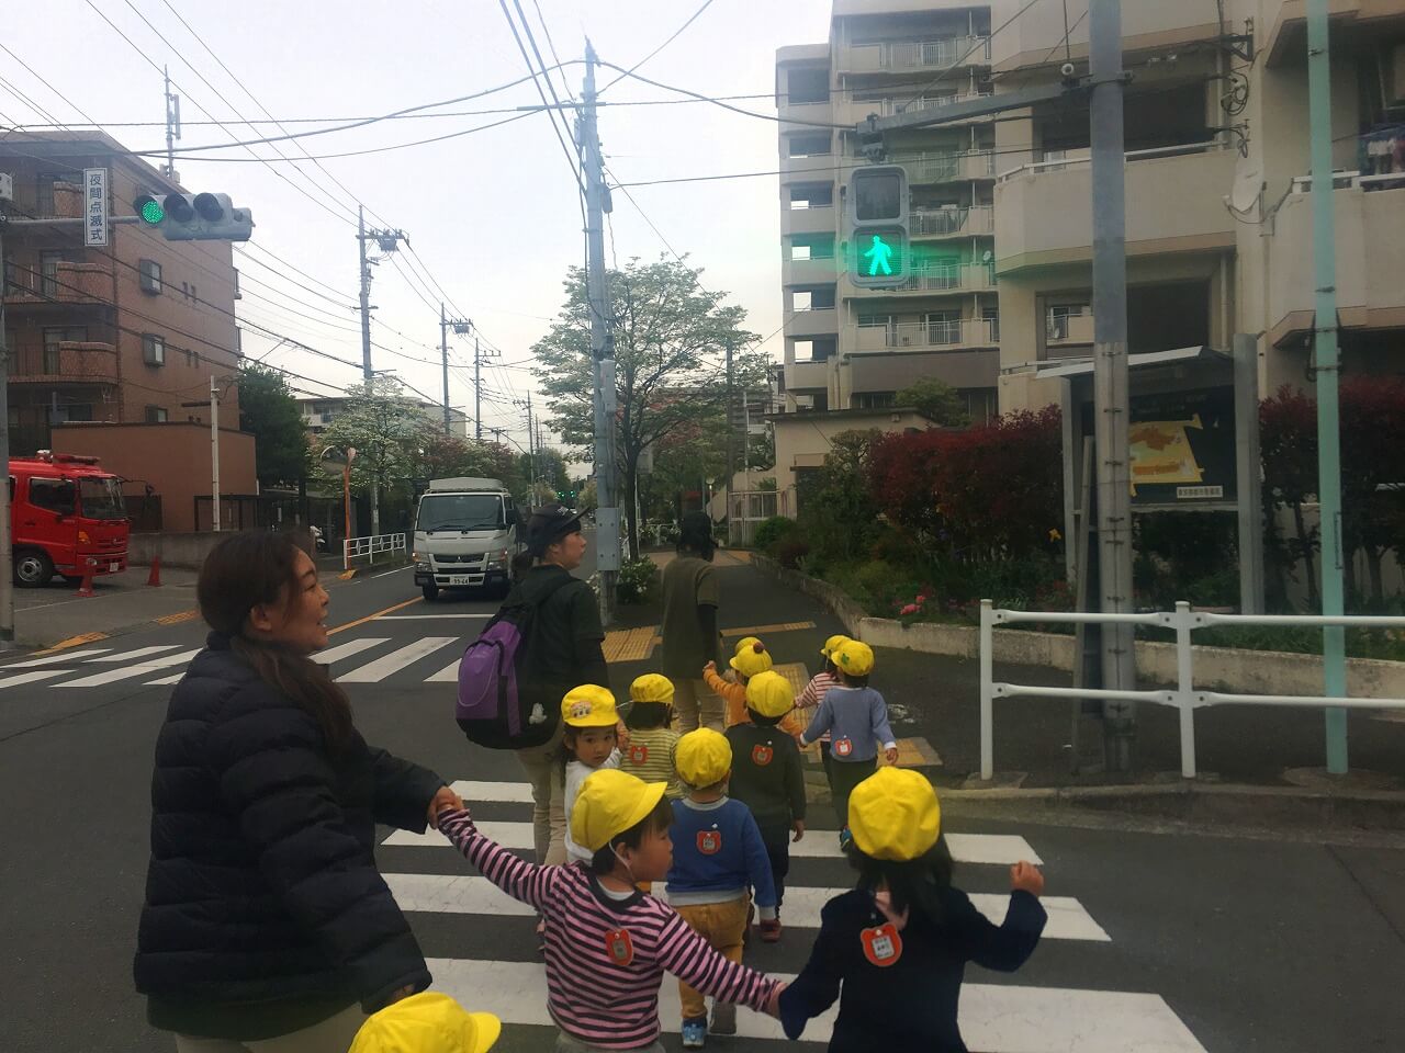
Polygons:
M287 535L222 541L197 595L212 632L156 740L136 990L178 1053L344 1053L430 984L375 824L423 831L461 799L355 730L311 657L327 594Z

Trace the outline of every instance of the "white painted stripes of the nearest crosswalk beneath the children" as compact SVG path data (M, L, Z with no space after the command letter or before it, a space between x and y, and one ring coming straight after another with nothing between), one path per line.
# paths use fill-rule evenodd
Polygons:
M495 814L516 813L525 817L530 812L531 792L527 783L465 779L454 782L452 789L471 804L481 804L485 810L492 806L496 809ZM532 845L531 824L527 821L485 820L478 826L507 848L521 851ZM805 848L812 838L812 852L797 851ZM1003 863L1016 854L1020 858L1037 858L1028 842L1019 835L948 834L947 838L953 855L965 862ZM523 938L531 938L527 918L535 914L534 908L509 897L479 876L466 861L461 873L445 870L441 858L433 873L413 872L414 861L426 858L420 855L423 849L451 848L441 834L396 831L382 845L396 849L395 855L382 862L382 869L402 910L412 915L440 918L476 917L485 924L490 918L521 918L518 924L524 927ZM806 883L805 872L821 865L818 861L836 858L840 852L830 830L809 831L791 849L792 865L781 917L787 934L798 936L794 945L804 953L819 927L821 908L844 892L840 887ZM833 863L825 866L833 880ZM984 880L992 873L968 876L968 880ZM667 894L659 886L655 886L655 893L663 897ZM968 894L976 910L996 922L1003 920L1009 904L1007 893L968 890ZM1043 904L1050 915L1045 941L1085 946L1087 951L1083 953L1094 953L1096 948L1113 945L1107 931L1078 899L1048 896ZM783 946L791 942L787 938ZM492 946L485 941L475 951L492 955ZM469 1008L499 1015L509 1029L552 1026L547 1011L545 969L537 962L497 960L475 953L465 958L433 958L429 966L436 990L454 995ZM771 974L781 980L792 979L780 972ZM1076 977L1068 980L1072 983L1057 987L1031 986L1023 977L1013 983L965 983L961 988L960 1022L967 1043L971 1049L989 1053L1205 1053L1204 1046L1161 995L1137 990L1085 990L1078 987ZM837 1007L809 1022L802 1049L822 1047L836 1012ZM680 1019L677 984L666 977L659 990L659 1021L665 1032L677 1033ZM784 1040L777 1021L745 1009L738 1014L738 1038L750 1039L747 1049L752 1050L770 1049L771 1042ZM712 1045L711 1040L708 1045Z

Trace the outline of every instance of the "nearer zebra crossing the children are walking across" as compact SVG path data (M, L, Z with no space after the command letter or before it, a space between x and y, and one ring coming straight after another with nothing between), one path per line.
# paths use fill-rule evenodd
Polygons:
M531 796L525 783L461 781L454 789L476 814L485 816L478 824L485 834L530 858ZM1034 845L1016 834L948 834L948 842L961 869L962 889L979 911L999 922L1009 900L1007 892L1002 892L1002 886L1007 889L1006 868L1016 859L1038 861ZM547 1012L545 969L531 953L535 936L530 907L479 876L437 833L395 831L381 842L379 861L391 892L426 948L438 990L469 1008L497 1014L506 1035L514 1028L552 1024ZM821 908L850 887L843 885L850 873L835 831L808 831L792 845L781 910L783 942L753 946L747 960L778 979L791 979L809 955ZM667 896L666 889L655 892ZM1076 897L1048 896L1044 906L1050 914L1044 943L1020 973L996 977L976 967L968 970L961 993L961 1029L971 1049L1205 1053L1159 994L1083 987L1076 974L1057 974L1071 962L1086 962L1090 973L1106 976L1109 963L1097 956L1118 951L1114 938ZM1111 972L1118 977L1117 984L1132 983L1116 963ZM823 1047L836 1011L837 1007L811 1021L802 1047ZM677 984L667 977L659 991L659 1019L665 1032L679 1031ZM528 1035L524 1032L524 1042ZM785 1040L777 1021L745 1011L738 1015L738 1038L749 1042L732 1047L747 1050L773 1043L778 1047Z

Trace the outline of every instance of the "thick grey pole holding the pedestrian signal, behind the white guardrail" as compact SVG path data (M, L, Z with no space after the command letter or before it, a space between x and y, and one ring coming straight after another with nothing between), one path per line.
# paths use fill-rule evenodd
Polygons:
M1097 448L1097 569L1103 614L1132 614L1132 518L1127 375L1127 205L1120 0L1089 3L1093 190L1093 420ZM1137 687L1132 626L1103 625L1103 687ZM1137 710L1103 705L1109 771L1134 765Z

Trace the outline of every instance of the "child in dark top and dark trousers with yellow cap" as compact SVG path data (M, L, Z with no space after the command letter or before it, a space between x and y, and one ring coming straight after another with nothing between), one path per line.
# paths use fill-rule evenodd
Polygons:
M790 873L791 837L805 835L805 771L799 747L778 724L795 709L795 692L776 670L759 673L746 685L747 723L726 729L732 747L728 792L752 810L766 845L776 885L776 920L762 921L762 941L781 938L781 904Z

